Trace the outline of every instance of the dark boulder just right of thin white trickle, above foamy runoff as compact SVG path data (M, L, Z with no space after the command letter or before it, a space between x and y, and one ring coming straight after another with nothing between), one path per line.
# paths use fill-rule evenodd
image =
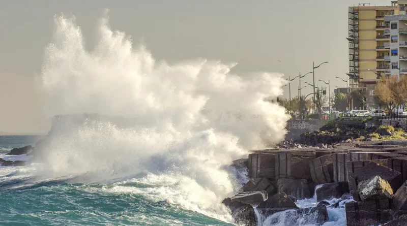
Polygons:
M349 183L347 181L333 182L320 185L316 190L316 200L330 200L332 198L341 198L344 193L348 193Z

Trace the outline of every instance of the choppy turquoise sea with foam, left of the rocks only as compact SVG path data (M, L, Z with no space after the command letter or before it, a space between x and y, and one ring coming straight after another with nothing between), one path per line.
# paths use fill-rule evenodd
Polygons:
M37 139L0 137L0 147ZM232 225L154 196L156 185L137 177L77 183L85 176L38 178L37 167L0 168L0 225Z

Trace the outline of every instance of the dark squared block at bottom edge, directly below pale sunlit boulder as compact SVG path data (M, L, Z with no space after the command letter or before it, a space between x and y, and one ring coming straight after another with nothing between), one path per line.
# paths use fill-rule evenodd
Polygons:
M379 225L392 220L389 199L345 204L347 226Z

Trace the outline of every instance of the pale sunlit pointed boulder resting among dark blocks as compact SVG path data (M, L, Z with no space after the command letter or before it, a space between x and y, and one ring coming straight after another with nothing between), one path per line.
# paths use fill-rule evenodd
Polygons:
M360 182L358 193L362 201L390 199L393 195L393 189L389 182L383 180L380 176L375 176Z

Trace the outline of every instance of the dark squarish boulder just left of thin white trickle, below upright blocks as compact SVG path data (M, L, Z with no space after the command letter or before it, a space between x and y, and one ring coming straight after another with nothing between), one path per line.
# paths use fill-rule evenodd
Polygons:
M311 192L307 180L294 180L281 178L277 181L278 192L286 193L297 199L311 198Z

